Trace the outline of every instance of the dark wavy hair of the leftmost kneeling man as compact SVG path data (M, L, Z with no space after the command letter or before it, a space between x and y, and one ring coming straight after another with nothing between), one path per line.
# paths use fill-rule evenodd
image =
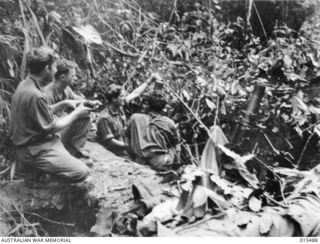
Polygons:
M38 75L47 66L52 65L59 56L49 47L31 49L27 54L27 67L31 74Z

